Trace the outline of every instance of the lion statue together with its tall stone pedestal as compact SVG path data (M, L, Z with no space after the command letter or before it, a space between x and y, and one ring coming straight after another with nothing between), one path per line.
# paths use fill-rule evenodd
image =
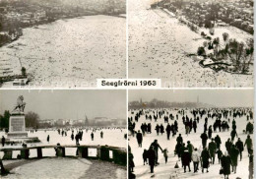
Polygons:
M20 95L17 99L17 104L14 110L11 112L9 119L9 132L8 138L27 138L28 133L26 132L25 123L25 109L26 102L24 102L23 95Z

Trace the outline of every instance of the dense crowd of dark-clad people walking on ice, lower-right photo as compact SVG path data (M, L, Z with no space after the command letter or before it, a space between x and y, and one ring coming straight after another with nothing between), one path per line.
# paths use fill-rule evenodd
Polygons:
M173 110L168 109L141 109L131 111L131 115L128 118L128 127L131 134L130 139L136 137L138 147L143 148L143 139L154 133L152 129L154 129L154 123L157 123L155 128L156 138L166 133L166 140L171 141L172 145L176 143L173 155L178 158L178 161L181 161L184 173L191 172L191 163L193 163L194 166L194 173L200 170L200 165L202 173L205 171L209 172L211 164L214 165L217 163L217 157L217 164L220 164L220 174L223 174L224 178L228 178L231 172L236 173L238 160L241 161L243 159L242 154L244 148L246 148L249 157L249 178L253 178L253 112L251 109L174 110L177 111L175 116L173 115ZM237 132L236 121L241 117L246 118L246 128ZM181 119L182 122L178 123L179 119ZM136 127L136 125L140 124L140 120L145 121L141 121L141 126ZM210 120L213 125L210 125ZM163 127L160 122L166 123L165 127ZM200 133L198 128L200 128L199 125L202 124L203 130L202 133ZM179 130L180 128L183 130ZM172 133L171 139L170 132ZM182 132L184 132L184 134L182 134ZM179 134L177 135L177 133ZM202 146L198 145L198 143L194 144L193 140L185 142L184 136L189 137L192 133L199 133ZM214 136L213 133L217 133L217 135ZM227 141L222 140L222 133L230 134ZM246 140L242 141L241 138L238 137L238 134L239 136L247 135ZM174 139L176 139L175 142ZM144 149L142 153L143 164L145 165L146 163L150 165L151 173L154 173L154 168L160 164L159 150L162 152L164 162L166 163L170 154L168 154L168 149L162 149L160 147L157 139L150 145L149 149ZM129 151L129 175L130 178L135 178L136 176L133 173L135 167L133 150L129 148ZM175 165L176 168L179 167L178 161ZM243 167L244 166L240 166L240 168Z

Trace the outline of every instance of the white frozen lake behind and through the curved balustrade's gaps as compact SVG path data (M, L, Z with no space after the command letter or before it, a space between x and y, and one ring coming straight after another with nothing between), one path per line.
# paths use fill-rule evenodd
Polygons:
M127 141L124 139L124 135L127 133L126 129L103 129L103 139L100 138L100 131L96 131L94 141L91 139L91 133L92 131L89 130L88 132L86 130L83 130L83 139L80 141L80 145L89 145L89 146L112 146L112 147L118 147L118 148L125 148L127 145ZM74 135L76 135L76 130L74 130ZM28 147L33 146L55 146L57 143L59 143L62 146L65 145L72 145L76 146L76 141L71 140L71 131L67 132L67 136L61 136L58 134L57 130L55 131L37 131L34 133L28 132L29 137L38 137L38 139L41 141L41 143L29 143ZM49 143L47 142L47 136L50 136ZM0 136L7 135L4 132L0 132ZM10 146L7 145L4 148L17 148L21 147L21 144L16 146ZM1 146L2 148L2 146ZM67 155L76 155L76 148L67 148L66 154ZM36 157L37 152L36 149L30 150L31 154L30 157ZM54 149L42 149L43 156L55 156L55 150ZM95 150L93 149L91 151L92 154L95 153ZM2 154L2 153L1 153ZM20 151L14 151L13 152L13 158L17 158L17 155L20 154Z

